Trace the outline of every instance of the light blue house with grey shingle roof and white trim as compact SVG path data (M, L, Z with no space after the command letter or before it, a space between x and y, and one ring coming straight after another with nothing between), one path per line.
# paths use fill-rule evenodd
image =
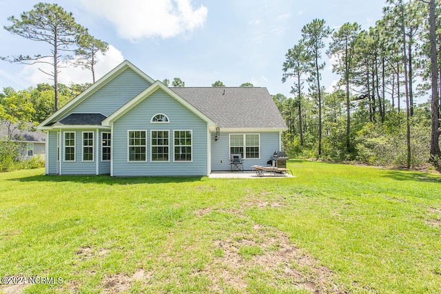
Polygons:
M266 165L285 122L262 87L167 87L124 61L38 126L46 174L204 176Z

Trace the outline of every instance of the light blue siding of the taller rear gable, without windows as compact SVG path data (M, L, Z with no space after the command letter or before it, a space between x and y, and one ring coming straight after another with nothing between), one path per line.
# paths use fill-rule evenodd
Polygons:
M101 113L109 116L149 86L149 82L128 68L74 107L70 113Z

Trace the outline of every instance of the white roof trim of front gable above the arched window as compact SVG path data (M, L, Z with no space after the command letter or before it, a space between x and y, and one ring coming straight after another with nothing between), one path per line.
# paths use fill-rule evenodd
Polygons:
M187 107L187 109L189 109L191 112L193 112L194 114L199 116L201 119L205 120L205 122L207 122L209 126L216 125L216 123L214 123L214 121L211 118L209 118L208 116L203 114L200 110L196 109L196 107L194 107L193 105L188 103L184 98L182 98L181 96L176 94L176 92L170 90L169 87L167 87L166 85L161 83L161 81L156 81L156 82L152 83L152 85L150 85L150 87L147 87L147 89L145 89L143 92L138 94L136 97L132 98L132 100L130 100L129 102L125 103L125 105L123 105L118 110L116 110L116 112L114 112L113 114L110 114L110 116L105 118L105 120L103 120L101 122L101 124L103 126L110 127L110 125L112 125L112 123L115 120L118 120L119 118L121 118L121 116L123 116L126 112L128 112L130 109L135 107L138 103L140 103L145 98L147 98L148 96L150 96L151 94L156 92L156 90L158 90L158 89L163 90L165 93L167 93L170 96L172 96L173 98L175 98L176 101L178 101L179 103L181 103L182 105Z

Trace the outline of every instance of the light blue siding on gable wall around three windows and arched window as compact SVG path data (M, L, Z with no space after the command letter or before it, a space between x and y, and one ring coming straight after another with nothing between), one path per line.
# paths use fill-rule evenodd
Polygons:
M155 114L170 123L150 123ZM174 162L174 130L192 130L192 162ZM147 131L147 161L127 162L127 131ZM151 130L169 130L170 162L150 162ZM163 90L157 90L113 124L113 176L207 175L207 123Z

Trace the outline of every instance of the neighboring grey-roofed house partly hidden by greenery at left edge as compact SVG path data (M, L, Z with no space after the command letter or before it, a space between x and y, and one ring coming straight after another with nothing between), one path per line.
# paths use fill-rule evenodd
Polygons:
M32 157L45 157L45 140L46 134L44 132L33 130L32 123L25 123L25 127L19 128L18 124L1 123L0 124L0 139L8 138L13 142L22 145L20 159L26 160ZM12 133L12 134L9 134Z

